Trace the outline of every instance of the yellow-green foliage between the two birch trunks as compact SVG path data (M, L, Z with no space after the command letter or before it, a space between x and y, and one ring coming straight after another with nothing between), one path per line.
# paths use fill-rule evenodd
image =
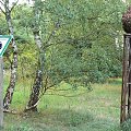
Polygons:
M35 76L37 69L37 48L35 44L19 44L19 68L17 79L31 79ZM34 50L33 50L34 48Z

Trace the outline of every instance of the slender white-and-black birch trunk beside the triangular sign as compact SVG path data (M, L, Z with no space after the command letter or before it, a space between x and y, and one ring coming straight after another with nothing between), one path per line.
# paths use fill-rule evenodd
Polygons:
M13 35L13 26L12 26L12 22L11 22L11 10L9 9L9 0L5 0L5 2L4 2L4 9L5 9L5 20L8 23L9 33L10 33L10 35ZM12 102L15 83L16 83L17 47L16 47L14 38L12 39L12 49L13 49L13 58L12 58L12 62L11 62L11 78L10 78L9 86L7 88L7 94L3 99L3 109L4 110L9 109L9 106Z

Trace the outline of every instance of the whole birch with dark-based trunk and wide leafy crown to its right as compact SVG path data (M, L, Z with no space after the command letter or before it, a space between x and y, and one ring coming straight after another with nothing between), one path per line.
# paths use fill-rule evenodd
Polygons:
M100 55L104 56L102 49L105 51L105 59L108 60L107 45L112 45L115 41L112 34L120 25L119 17L116 17L118 11L121 11L120 7L117 7L118 3L116 7L107 1L85 0L75 2L48 0L45 3L44 7L40 0L35 1L33 8L32 32L39 53L36 76L25 111L37 111L40 97L50 87L59 85L61 81L72 84L72 87L79 84L90 87L90 81L105 81L105 78L109 76L109 68L107 63L97 64L98 62L95 61L97 59L93 60L92 55L96 56L95 52L97 53L99 48ZM110 4L111 11L107 8ZM44 20L46 13L48 19ZM53 21L53 25L50 24L50 20ZM41 21L47 21L47 32L43 28ZM45 34L46 37L43 37ZM106 41L104 37L110 40ZM103 60L99 53L97 55L98 60L99 58ZM110 62L108 64L111 66ZM91 68L96 70L90 70ZM94 78L96 79L93 80Z

